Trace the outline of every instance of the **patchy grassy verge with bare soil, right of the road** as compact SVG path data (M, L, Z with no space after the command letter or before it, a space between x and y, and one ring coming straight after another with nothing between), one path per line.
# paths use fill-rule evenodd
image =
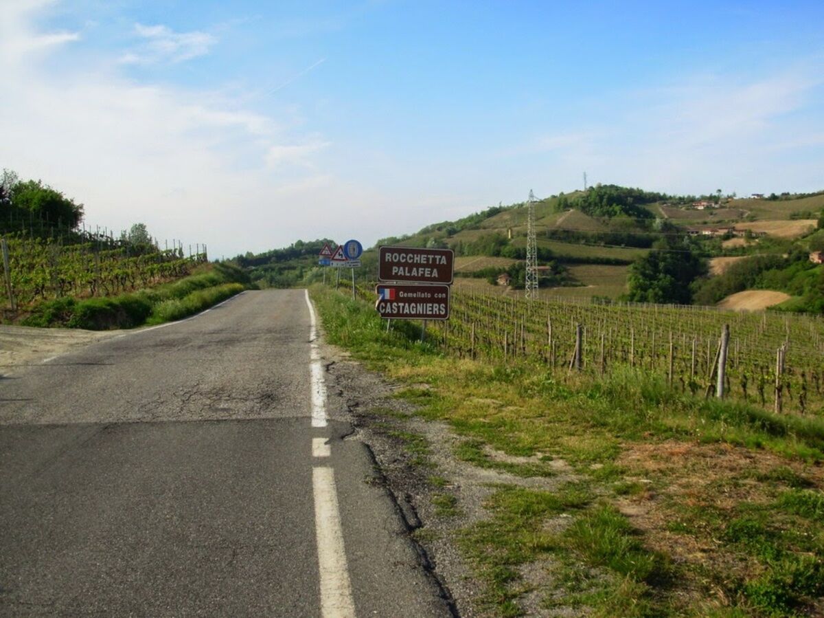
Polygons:
M457 458L513 478L563 464L578 479L496 488L488 517L456 531L485 611L517 616L529 592L601 616L824 613L820 419L693 398L642 371L559 379L459 361L412 323L387 332L369 304L312 292L329 341L463 436Z

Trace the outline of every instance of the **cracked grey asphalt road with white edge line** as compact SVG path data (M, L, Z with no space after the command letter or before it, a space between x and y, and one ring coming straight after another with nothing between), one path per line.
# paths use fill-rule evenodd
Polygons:
M250 291L3 370L0 615L449 616L312 321Z

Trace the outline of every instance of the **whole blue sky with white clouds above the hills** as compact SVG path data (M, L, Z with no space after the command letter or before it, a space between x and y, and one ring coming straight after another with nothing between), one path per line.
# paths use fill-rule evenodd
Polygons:
M0 167L210 257L824 189L824 2L0 0Z

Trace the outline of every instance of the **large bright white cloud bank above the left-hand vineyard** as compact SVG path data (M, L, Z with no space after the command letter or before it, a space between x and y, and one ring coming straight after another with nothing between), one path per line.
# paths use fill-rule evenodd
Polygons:
M207 243L227 257L331 235L334 221L348 225L327 217L325 205L363 193L314 162L330 145L322 136L222 92L136 83L118 64L68 64L67 72L62 63L51 73L49 53L65 48L26 53L51 35L36 31L40 13L13 17L15 45L0 47L4 87L15 92L0 98L0 167L84 203L89 224L126 229L141 221L161 241ZM166 59L200 45L162 27L144 34L172 41L157 48Z

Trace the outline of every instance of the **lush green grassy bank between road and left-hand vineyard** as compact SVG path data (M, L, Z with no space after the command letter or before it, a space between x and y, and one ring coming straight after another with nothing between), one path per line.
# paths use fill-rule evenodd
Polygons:
M243 271L217 264L180 281L133 294L83 300L67 296L41 303L21 323L89 330L133 328L185 318L248 287Z

